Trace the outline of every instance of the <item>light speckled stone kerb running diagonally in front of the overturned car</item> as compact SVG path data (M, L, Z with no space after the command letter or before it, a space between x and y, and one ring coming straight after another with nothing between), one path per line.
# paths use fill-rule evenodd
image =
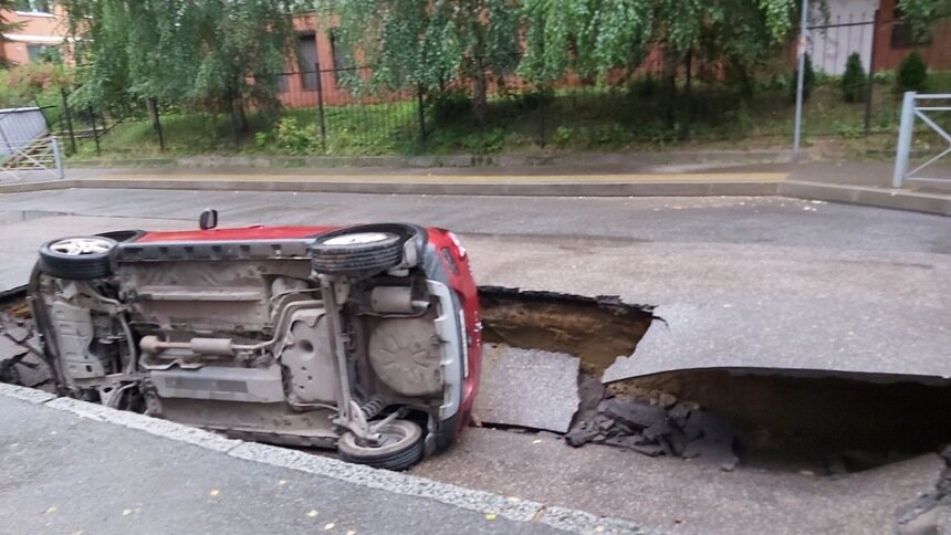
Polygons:
M546 505L527 500L505 497L489 492L440 483L399 472L389 472L335 459L314 455L275 445L245 442L181 423L160 420L136 412L112 409L102 405L61 398L33 388L0 382L0 396L71 412L104 423L144 431L176 442L197 445L236 459L331 478L344 483L394 494L433 500L478 513L525 523L540 523L572 533L647 534L645 528L630 521L604 517L584 511Z

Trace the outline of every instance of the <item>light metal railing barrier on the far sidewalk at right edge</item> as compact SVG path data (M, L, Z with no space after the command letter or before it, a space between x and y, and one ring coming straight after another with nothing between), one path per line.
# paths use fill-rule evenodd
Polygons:
M919 102L923 102L924 105L919 105ZM895 155L895 175L891 178L892 188L900 188L907 180L951 182L951 174L947 177L922 177L916 175L951 154L951 134L948 134L932 117L928 116L929 113L934 112L951 112L951 94L919 95L913 91L905 93L905 98L901 101L901 125L898 130L898 148ZM941 136L948 143L948 147L937 156L928 159L924 164L909 171L908 167L911 155L911 143L915 137L916 118L921 119L922 123Z

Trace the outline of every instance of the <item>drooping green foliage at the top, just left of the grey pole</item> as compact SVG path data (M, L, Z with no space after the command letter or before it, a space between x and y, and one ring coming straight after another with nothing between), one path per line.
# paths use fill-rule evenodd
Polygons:
M535 82L636 67L660 45L678 63L688 50L750 65L775 53L792 28L792 0L523 0L525 55Z

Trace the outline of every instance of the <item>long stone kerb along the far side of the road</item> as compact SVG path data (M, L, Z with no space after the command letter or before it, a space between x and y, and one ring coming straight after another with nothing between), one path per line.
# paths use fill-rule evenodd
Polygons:
M156 179L64 179L0 186L2 193L61 189L155 189L191 191L285 191L307 193L462 195L522 197L788 197L951 216L951 196L901 189L870 188L802 180L764 181L485 181L380 182L327 180L163 180Z

